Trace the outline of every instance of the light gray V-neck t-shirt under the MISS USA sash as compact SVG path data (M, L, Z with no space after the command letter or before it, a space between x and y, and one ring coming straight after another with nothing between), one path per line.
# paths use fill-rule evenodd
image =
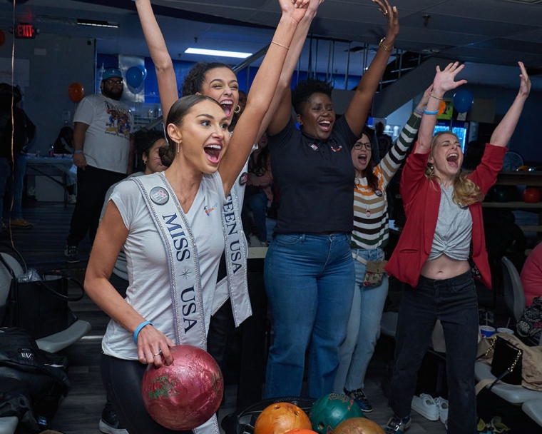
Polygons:
M158 174L145 176L158 177ZM136 183L128 180L116 186L111 201L117 206L128 228L128 238L123 246L129 281L126 302L175 342L168 259L145 199L141 196ZM220 174L218 172L204 174L194 203L186 213L200 260L206 331L209 329L215 297L218 263L224 251L220 214L224 204L225 196ZM107 355L116 358L138 360L137 345L133 343L132 333L113 320L108 324L102 349Z

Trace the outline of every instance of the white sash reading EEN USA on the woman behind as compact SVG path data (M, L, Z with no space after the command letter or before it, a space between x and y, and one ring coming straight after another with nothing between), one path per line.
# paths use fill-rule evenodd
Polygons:
M232 186L222 209L227 277L217 283L213 314L228 298L232 302L235 327L252 315L247 283L247 241L242 230L237 185Z

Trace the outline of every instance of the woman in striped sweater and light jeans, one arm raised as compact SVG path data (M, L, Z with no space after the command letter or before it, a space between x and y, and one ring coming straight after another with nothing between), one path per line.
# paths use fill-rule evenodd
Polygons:
M431 88L424 92L396 143L377 166L374 166L372 158L373 144L369 139L369 131L364 131L352 148L356 178L354 231L350 247L356 270L356 288L348 321L347 339L340 348L334 391L354 398L366 413L372 411L372 405L363 392L364 378L380 334L380 320L388 294L388 278L384 273L379 286L364 286L363 281L367 261L384 259L382 249L389 238L386 187L414 141L430 91Z

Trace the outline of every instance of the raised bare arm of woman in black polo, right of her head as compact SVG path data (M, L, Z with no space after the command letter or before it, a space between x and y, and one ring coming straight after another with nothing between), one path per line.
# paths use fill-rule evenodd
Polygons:
M382 74L388 64L389 55L395 43L395 37L399 33L399 14L397 8L389 6L387 0L372 0L376 3L382 14L387 19L388 31L386 37L379 45L376 56L369 65L369 69L364 72L362 79L356 88L356 93L350 101L347 111L344 113L348 125L352 132L359 136L363 131L367 115L371 108L374 93L377 91Z

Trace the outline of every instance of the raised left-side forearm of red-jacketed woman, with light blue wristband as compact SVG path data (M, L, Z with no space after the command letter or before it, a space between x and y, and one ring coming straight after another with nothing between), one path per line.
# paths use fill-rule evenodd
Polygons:
M454 81L456 75L464 68L464 65L459 66L459 62L449 64L444 71L440 70L440 66L436 66L436 75L433 80L433 89L431 97L424 111L424 116L421 118L419 126L418 144L416 145L415 153L427 153L431 148L433 140L433 131L436 125L436 115L439 113L440 102L444 98L444 94L451 89L465 84L466 80ZM433 114L430 114L433 113Z

